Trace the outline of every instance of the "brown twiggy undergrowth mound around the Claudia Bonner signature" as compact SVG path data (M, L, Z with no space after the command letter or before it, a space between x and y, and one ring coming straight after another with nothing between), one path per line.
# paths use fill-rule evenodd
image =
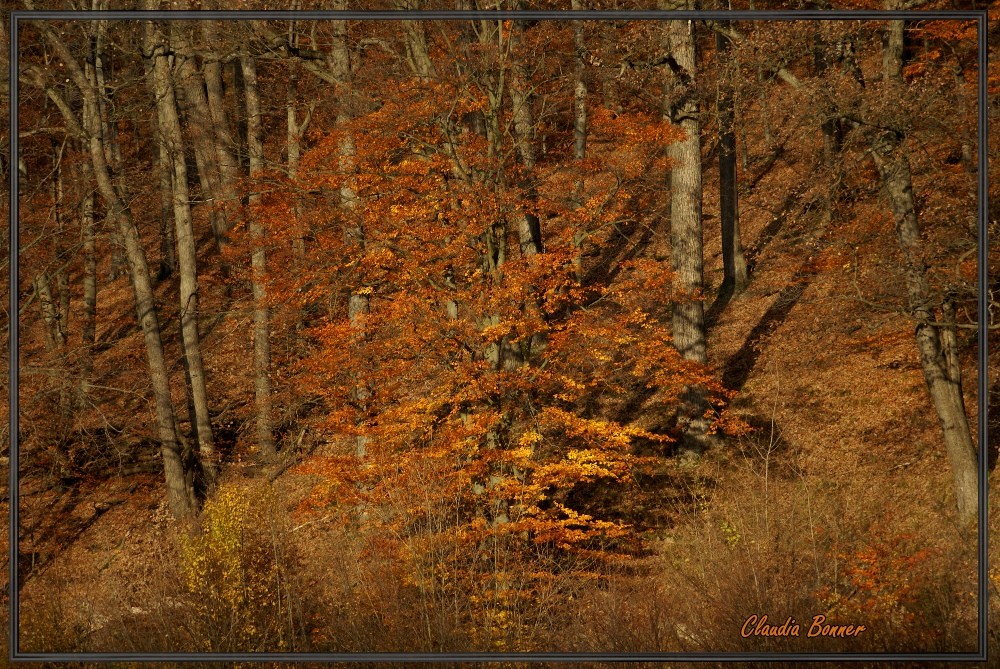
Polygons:
M864 470L843 483L800 473L765 484L744 468L724 485L741 492L674 528L647 572L588 594L577 650L975 651L974 545L948 517L893 513L905 491ZM764 615L775 627L794 618L799 635L744 637L747 619ZM817 615L866 630L810 638Z

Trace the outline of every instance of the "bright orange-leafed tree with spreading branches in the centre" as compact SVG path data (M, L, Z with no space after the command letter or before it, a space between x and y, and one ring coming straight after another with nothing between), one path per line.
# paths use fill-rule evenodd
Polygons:
M469 591L488 574L495 603L512 586L477 557L488 546L521 566L638 551L594 491L662 465L651 456L672 452L686 387L708 391L712 417L726 393L672 345L666 307L680 296L667 263L615 247L661 197L647 179L662 178L679 132L641 109L598 107L590 157L557 154L529 173L509 134L468 123L504 127L512 110L465 84L401 76L392 99L316 133L298 180L268 205L268 253L289 268L273 270L275 327L311 314L290 383L323 407L328 448L302 468L319 476L303 512L349 510L345 522L412 562L424 592ZM345 188L355 206L338 206ZM518 244L525 210L543 252ZM303 229L317 251L296 260ZM578 271L581 232L600 271ZM352 292L367 296L361 319L349 317ZM631 420L636 396L655 424ZM532 579L513 600L530 600Z

